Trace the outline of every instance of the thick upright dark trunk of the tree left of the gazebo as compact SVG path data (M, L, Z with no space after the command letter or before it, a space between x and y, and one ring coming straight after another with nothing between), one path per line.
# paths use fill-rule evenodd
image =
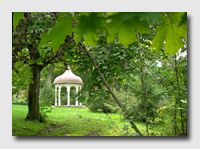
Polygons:
M28 115L26 117L26 120L41 121L39 112L40 71L41 69L39 65L31 65L33 78L28 91Z

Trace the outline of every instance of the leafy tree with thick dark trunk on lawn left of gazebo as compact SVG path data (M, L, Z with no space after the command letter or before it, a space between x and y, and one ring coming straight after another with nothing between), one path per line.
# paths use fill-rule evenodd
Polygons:
M16 26L16 19L21 15L18 25ZM23 16L24 15L24 16ZM67 66L67 63L62 58L65 54L65 50L70 47L70 36L65 34L63 39L63 45L60 49L53 53L52 48L47 44L38 47L40 43L40 35L44 32L47 33L53 26L58 18L58 13L14 13L13 14L13 51L12 51L12 66L13 70L18 73L16 63L21 61L30 68L32 76L32 82L29 84L28 91L28 115L27 120L39 120L39 88L40 88L40 72L48 64L52 64L58 61L63 61ZM59 23L56 27L59 28ZM16 27L15 27L16 26ZM51 32L56 32L56 28ZM51 43L54 44L53 42Z

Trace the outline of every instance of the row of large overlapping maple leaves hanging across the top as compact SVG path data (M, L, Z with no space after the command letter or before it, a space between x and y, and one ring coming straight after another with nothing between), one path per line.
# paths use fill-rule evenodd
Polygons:
M65 36L75 32L76 44L83 37L86 44L96 47L99 32L106 32L108 43L119 34L119 42L128 47L137 41L136 31L149 34L152 32L150 26L156 27L151 47L157 52L164 45L166 53L177 53L184 46L182 38L187 39L187 13L184 12L81 12L78 15L70 13L73 17L67 17L66 14L60 13L57 25L49 33L41 35L40 46L51 40L51 47L55 52L64 42ZM74 28L72 22L76 22Z

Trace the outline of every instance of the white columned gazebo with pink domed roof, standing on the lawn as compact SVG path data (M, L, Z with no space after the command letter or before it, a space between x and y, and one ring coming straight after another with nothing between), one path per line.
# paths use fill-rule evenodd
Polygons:
M66 70L62 75L55 78L53 84L55 85L55 106L61 106L61 88L65 86L67 88L67 105L64 106L70 106L70 88L75 87L76 93L78 93L78 90L83 85L83 81L80 77L76 76L72 73L69 65L67 67L68 70ZM57 95L57 89L58 89L58 95ZM58 97L58 101L57 101ZM75 99L75 105L74 106L82 106L82 104L78 103L77 98Z

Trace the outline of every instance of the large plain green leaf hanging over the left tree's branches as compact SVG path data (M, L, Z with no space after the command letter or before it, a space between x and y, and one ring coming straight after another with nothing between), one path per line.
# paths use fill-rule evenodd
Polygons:
M55 52L59 46L64 43L67 35L72 35L72 17L63 17L56 26L49 32L46 32L40 36L41 41L39 47L42 47L45 43L51 42L53 52Z

